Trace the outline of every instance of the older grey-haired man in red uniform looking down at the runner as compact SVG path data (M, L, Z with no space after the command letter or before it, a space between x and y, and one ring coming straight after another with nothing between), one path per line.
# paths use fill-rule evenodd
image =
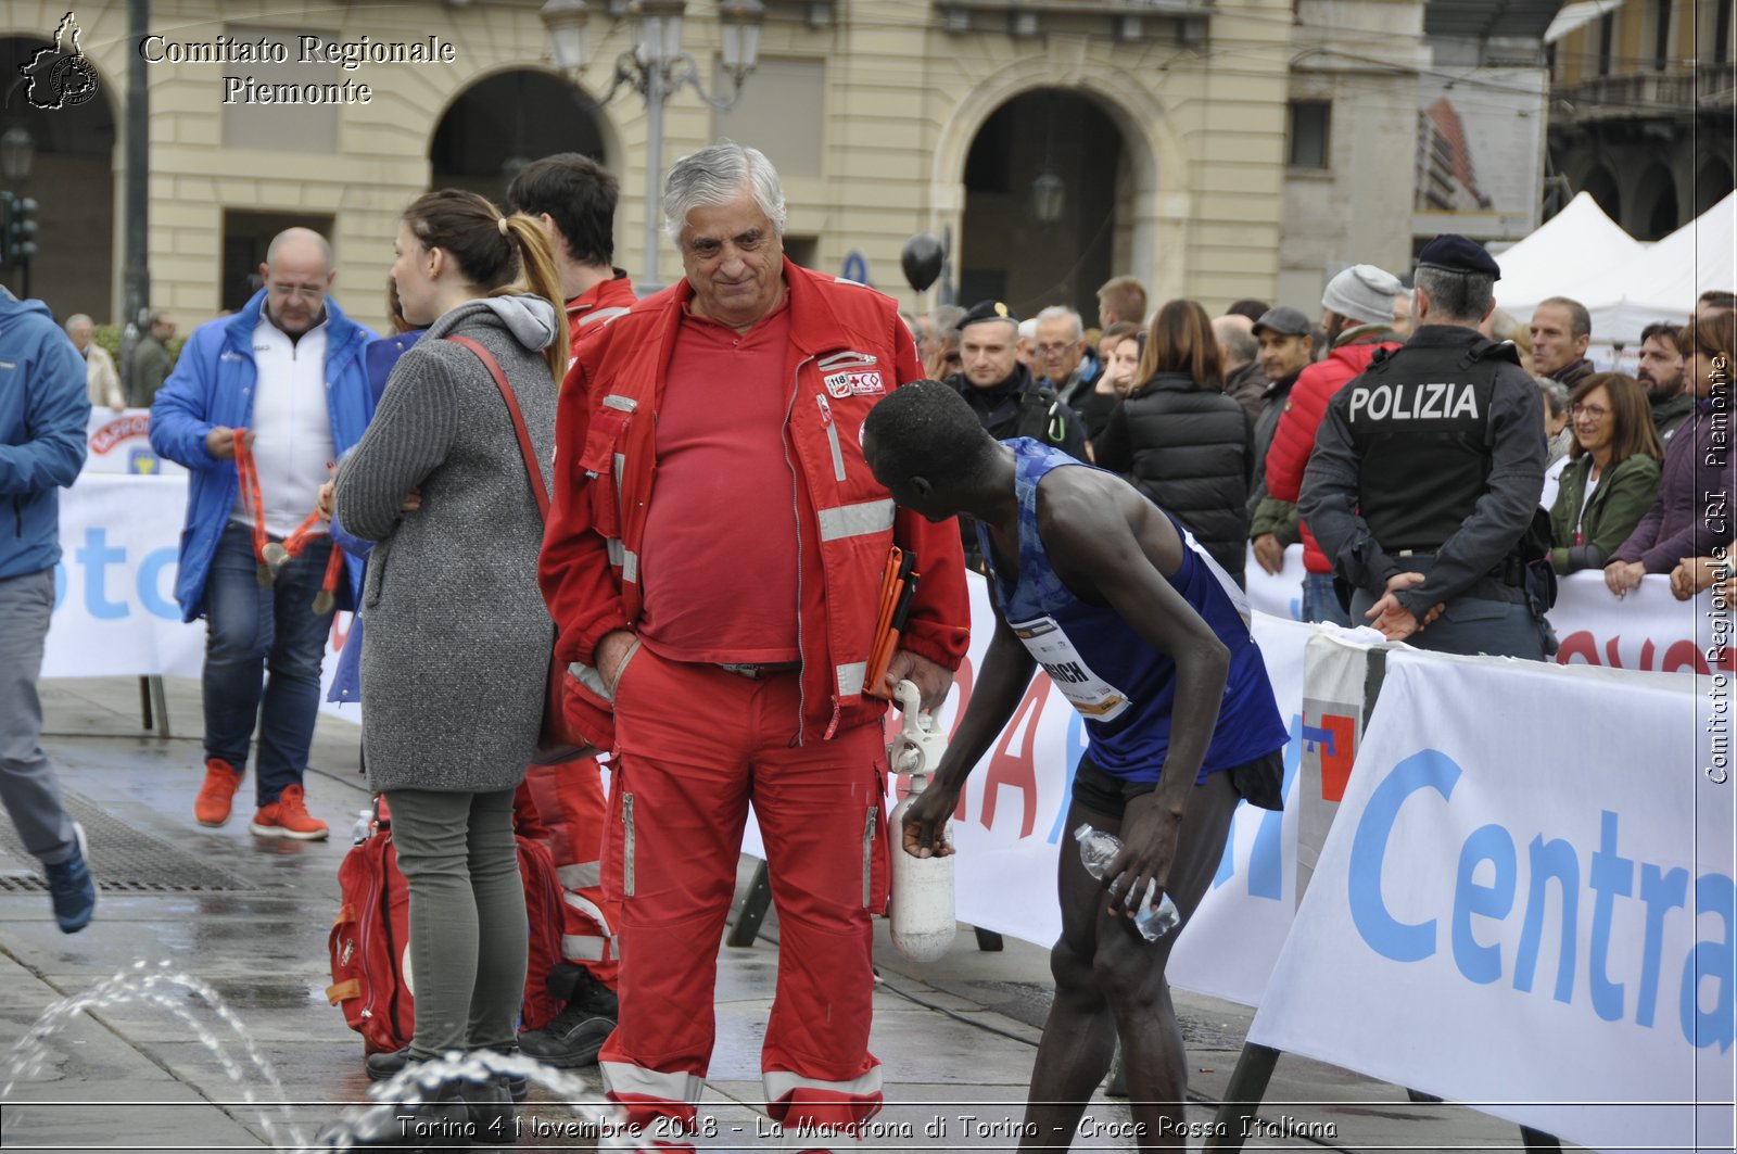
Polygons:
M935 707L968 641L959 539L896 511L868 471L862 421L922 375L917 349L889 299L783 257L771 163L702 149L664 203L686 276L582 344L542 554L580 728L618 754L604 883L624 904L622 1017L601 1067L648 1149L691 1149L752 796L782 932L769 1112L848 1133L881 1105L886 706L865 693L881 579L891 546L915 554L886 683Z

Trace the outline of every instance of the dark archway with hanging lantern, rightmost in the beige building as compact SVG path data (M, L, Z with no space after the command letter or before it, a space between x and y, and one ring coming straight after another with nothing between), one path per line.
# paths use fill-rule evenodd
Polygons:
M959 302L1068 304L1094 323L1122 169L1122 132L1089 96L1034 89L997 108L966 156Z

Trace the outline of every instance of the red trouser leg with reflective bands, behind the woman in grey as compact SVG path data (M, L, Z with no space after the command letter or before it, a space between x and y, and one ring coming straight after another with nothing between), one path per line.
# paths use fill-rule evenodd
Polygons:
M549 829L549 852L561 879L561 958L585 966L591 977L615 989L620 911L603 892L603 770L596 758L533 765L525 773L523 793L535 801Z

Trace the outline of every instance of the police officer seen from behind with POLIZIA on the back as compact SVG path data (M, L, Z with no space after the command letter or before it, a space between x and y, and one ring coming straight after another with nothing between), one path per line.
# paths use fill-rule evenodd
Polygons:
M1353 622L1419 648L1542 660L1525 560L1544 417L1515 346L1476 328L1499 278L1464 236L1424 247L1416 330L1334 395L1298 507L1353 587Z

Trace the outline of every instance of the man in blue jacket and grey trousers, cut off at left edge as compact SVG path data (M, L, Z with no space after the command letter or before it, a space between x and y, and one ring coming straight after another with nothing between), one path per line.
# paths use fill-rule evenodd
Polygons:
M66 813L42 751L36 676L61 560L59 488L85 464L85 363L42 301L0 288L0 801L43 866L54 919L90 923L97 892L83 831ZM7 507L10 506L10 507Z

